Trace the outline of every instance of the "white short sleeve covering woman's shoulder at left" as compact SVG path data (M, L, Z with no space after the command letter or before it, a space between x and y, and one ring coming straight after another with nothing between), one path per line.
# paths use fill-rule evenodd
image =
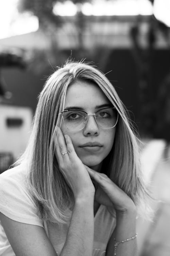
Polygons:
M8 170L10 171L10 170ZM43 226L37 207L23 183L0 175L0 212L17 222Z

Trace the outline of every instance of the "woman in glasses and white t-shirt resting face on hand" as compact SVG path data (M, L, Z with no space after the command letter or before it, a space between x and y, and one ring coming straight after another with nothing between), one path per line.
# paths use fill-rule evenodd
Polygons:
M70 62L49 77L0 190L0 255L137 255L137 138L104 74Z

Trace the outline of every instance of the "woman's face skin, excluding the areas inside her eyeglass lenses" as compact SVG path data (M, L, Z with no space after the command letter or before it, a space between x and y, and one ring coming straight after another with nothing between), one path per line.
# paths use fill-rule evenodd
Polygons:
M99 86L78 81L67 89L64 110L76 107L92 114L107 107L107 105L111 106L111 103ZM88 122L82 130L68 130L63 120L61 129L64 135L68 134L71 137L75 152L82 162L92 169L100 171L103 159L112 149L116 128L101 128L96 123L94 115L89 115ZM86 143L96 143L97 146L94 146L94 144L84 145Z

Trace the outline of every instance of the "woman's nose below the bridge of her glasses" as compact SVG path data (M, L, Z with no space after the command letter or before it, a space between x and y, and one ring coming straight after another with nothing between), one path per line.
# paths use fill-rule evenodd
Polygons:
M98 136L99 126L96 123L94 115L88 115L87 124L83 129L84 136Z

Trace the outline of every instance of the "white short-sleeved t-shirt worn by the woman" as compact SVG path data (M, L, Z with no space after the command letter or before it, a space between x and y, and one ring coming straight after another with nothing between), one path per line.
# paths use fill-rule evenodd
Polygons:
M14 221L43 227L55 251L60 255L69 223L62 225L42 221L37 214L34 200L28 193L26 169L17 166L0 174L0 212ZM104 205L95 217L93 256L104 256L109 238L116 226L116 219ZM0 221L0 256L15 256Z

